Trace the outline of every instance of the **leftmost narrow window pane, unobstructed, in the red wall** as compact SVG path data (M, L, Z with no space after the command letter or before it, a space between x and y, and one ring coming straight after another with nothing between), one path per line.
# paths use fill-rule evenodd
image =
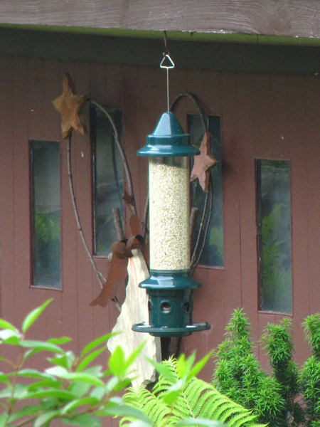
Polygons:
M61 288L58 142L31 141L33 285Z

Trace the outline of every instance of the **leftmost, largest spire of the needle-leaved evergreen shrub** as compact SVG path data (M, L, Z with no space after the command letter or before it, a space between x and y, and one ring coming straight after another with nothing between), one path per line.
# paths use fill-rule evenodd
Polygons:
M252 409L262 423L285 425L285 401L276 379L261 369L252 352L250 322L242 310L235 310L227 338L216 352L213 385L245 408Z

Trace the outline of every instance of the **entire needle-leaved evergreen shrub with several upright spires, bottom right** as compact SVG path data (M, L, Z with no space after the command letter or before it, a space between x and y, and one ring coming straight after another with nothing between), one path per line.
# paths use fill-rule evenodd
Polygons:
M312 356L303 367L292 360L292 324L284 318L270 323L262 342L270 357L271 374L262 370L253 353L250 322L235 310L226 339L215 353L213 385L252 409L262 423L274 427L320 426L320 314L303 323Z

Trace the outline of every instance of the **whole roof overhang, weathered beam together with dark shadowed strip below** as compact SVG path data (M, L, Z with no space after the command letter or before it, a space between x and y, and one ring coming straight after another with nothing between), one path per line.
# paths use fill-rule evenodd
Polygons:
M0 1L1 55L158 66L164 30L180 68L320 71L319 0Z

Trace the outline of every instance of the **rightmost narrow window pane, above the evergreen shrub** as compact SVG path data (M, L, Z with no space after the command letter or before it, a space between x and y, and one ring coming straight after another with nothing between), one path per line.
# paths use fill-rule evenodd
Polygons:
M257 160L260 310L292 312L289 162Z

